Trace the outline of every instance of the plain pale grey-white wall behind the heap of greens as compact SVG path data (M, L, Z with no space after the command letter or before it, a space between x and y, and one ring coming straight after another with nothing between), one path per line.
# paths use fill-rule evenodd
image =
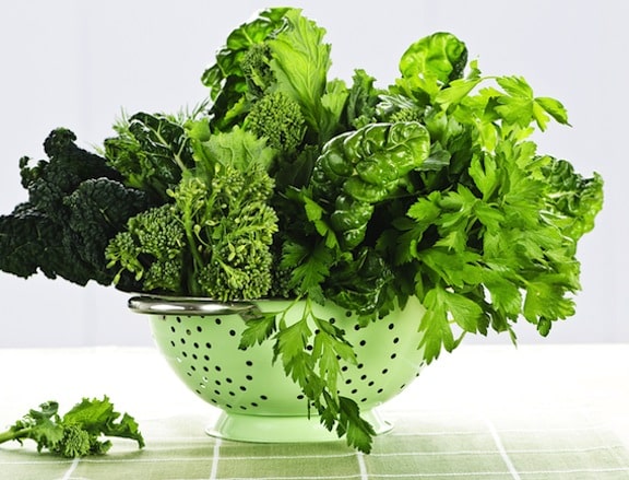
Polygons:
M26 199L22 155L43 157L56 127L85 148L112 134L121 110L177 112L206 91L199 78L226 36L262 1L21 0L0 7L0 213ZM437 31L464 40L486 74L523 75L560 99L571 128L551 126L541 153L606 180L597 226L580 245L577 315L548 339L521 325L522 342L629 341L627 92L629 3L617 0L294 1L328 31L331 78L364 68L385 86L408 45ZM109 288L0 273L0 347L150 344L147 323ZM524 320L523 320L523 324ZM470 339L506 342L508 338Z

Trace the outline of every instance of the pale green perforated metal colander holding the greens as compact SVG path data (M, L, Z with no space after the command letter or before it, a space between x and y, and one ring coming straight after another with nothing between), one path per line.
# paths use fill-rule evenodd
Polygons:
M129 306L150 314L155 343L177 376L199 397L223 410L209 433L251 442L334 440L299 387L273 363L272 342L240 350L248 318L258 312L284 312L288 325L301 319L305 302L257 301L222 304L204 298L135 296ZM356 364L341 363L340 394L353 398L378 433L391 425L375 408L419 375L418 321L424 307L412 298L402 311L361 328L356 316L336 305L313 305L319 318L345 331ZM314 327L311 327L314 331Z

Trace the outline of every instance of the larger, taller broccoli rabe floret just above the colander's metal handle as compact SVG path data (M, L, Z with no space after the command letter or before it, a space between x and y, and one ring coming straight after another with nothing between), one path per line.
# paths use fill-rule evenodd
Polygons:
M233 301L269 293L277 230L272 192L273 180L258 163L216 164L211 179L183 178L173 196L193 256L191 294Z

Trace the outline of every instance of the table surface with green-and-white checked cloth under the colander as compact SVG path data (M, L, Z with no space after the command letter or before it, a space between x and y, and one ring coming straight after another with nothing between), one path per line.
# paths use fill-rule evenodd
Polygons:
M0 349L0 426L29 408L108 395L146 441L63 459L0 446L0 478L629 479L629 346L462 346L380 412L394 423L370 455L344 442L246 444L204 433L219 411L152 348Z

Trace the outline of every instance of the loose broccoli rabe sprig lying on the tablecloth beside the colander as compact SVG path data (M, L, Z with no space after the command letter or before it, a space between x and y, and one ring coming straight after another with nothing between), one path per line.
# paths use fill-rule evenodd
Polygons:
M63 417L58 413L59 403L47 401L39 409L32 409L5 432L0 433L0 444L9 441L22 443L33 440L37 452L48 449L68 458L103 455L111 448L105 437L130 438L144 447L144 438L138 423L129 414L120 414L105 396L99 399L84 398Z

